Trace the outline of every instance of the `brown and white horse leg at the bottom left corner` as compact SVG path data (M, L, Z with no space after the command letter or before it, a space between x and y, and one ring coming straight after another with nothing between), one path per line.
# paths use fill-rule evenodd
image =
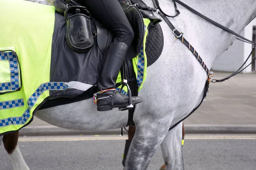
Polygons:
M17 144L19 131L3 136L3 145L12 161L13 170L29 170Z

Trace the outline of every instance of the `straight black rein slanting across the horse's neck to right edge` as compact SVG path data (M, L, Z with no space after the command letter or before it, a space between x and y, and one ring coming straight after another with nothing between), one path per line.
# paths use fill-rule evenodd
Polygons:
M254 44L256 45L256 42L253 42L251 40L248 40L247 38L242 37L241 35L235 33L234 31L232 31L231 29L222 26L221 24L215 22L214 20L209 19L208 17L204 16L203 14L199 13L198 11L196 11L195 9L191 8L190 6L186 5L185 3L181 2L180 0L173 0L174 2L179 3L180 5L184 6L185 8L187 8L189 11L192 11L193 13L197 14L199 17L204 18L205 20L209 21L210 23L214 24L215 26L218 26L219 28L229 32L230 34L236 35L237 37L245 40L246 42L250 43L250 44Z

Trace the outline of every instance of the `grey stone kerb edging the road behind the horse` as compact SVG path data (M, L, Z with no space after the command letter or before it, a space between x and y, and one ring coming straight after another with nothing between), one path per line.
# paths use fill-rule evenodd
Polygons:
M184 125L186 134L256 134L256 125ZM128 129L128 128L127 128ZM60 135L120 135L120 129L104 131L67 130L53 125L27 126L19 130L20 136L60 136ZM123 134L127 131L123 129Z

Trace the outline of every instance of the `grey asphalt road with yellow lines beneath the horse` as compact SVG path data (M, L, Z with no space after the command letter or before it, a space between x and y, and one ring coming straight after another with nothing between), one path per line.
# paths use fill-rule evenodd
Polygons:
M112 138L112 139L111 139ZM22 137L19 147L31 170L122 170L125 137ZM186 170L255 170L256 135L186 135L183 147ZM159 170L160 147L148 170ZM3 145L0 170L12 170Z

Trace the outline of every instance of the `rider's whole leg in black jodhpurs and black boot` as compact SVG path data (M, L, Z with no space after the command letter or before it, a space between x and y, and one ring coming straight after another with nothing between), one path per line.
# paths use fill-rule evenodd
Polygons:
M99 77L97 94L97 110L108 111L112 108L125 107L128 104L128 96L117 93L113 88L116 78L125 59L128 47L134 39L131 25L117 0L77 0L86 6L93 17L109 28L114 35L114 42L105 54L102 73ZM111 91L108 91L110 90ZM107 90L107 91L105 91ZM103 92L103 93L102 93ZM132 97L133 104L142 102L138 96Z

